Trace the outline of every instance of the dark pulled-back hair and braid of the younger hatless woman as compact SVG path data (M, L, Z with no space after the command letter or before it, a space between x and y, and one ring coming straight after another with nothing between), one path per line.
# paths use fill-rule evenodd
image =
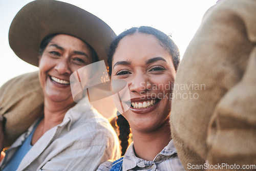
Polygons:
M174 68L177 71L179 63L180 63L180 51L174 41L170 39L169 36L161 32L160 30L154 29L148 26L141 27L133 27L129 30L126 30L119 34L111 43L109 52L108 52L108 64L109 64L109 74L112 74L112 60L115 54L116 48L120 42L120 40L127 36L135 33L144 33L151 34L158 38L161 42L161 46L168 51L168 53L172 56ZM119 127L119 140L121 141L122 147L122 156L124 155L128 145L129 145L129 135L130 135L130 124L129 122L118 113L117 125Z

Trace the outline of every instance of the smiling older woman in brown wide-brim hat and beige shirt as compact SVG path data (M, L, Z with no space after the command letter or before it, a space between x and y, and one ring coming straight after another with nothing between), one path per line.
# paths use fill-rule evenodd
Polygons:
M85 104L74 102L69 81L76 70L105 59L114 36L101 19L67 3L37 0L17 13L10 46L39 67L44 115L6 151L1 170L95 170L119 157L110 123L87 97Z

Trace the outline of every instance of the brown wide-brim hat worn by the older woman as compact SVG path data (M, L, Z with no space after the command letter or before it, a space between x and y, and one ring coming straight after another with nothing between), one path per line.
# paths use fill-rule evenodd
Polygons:
M54 33L86 41L108 66L107 49L116 34L97 16L68 3L36 0L25 5L12 21L9 44L20 59L38 66L41 41Z

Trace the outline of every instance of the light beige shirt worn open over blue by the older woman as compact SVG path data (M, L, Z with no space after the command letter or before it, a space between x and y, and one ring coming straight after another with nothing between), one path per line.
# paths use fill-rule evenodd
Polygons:
M8 149L0 169L22 145L33 126ZM100 163L119 157L119 142L113 127L86 99L86 103L71 108L62 123L33 145L17 170L96 170Z

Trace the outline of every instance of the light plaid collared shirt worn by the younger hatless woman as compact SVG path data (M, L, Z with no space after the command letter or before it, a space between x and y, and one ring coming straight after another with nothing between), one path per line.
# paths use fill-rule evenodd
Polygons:
M112 162L106 161L102 163L97 171L109 171L112 166ZM167 146L155 157L153 161L146 161L135 156L133 143L127 148L126 153L123 156L123 171L132 170L185 170L182 166L173 140L171 140Z

